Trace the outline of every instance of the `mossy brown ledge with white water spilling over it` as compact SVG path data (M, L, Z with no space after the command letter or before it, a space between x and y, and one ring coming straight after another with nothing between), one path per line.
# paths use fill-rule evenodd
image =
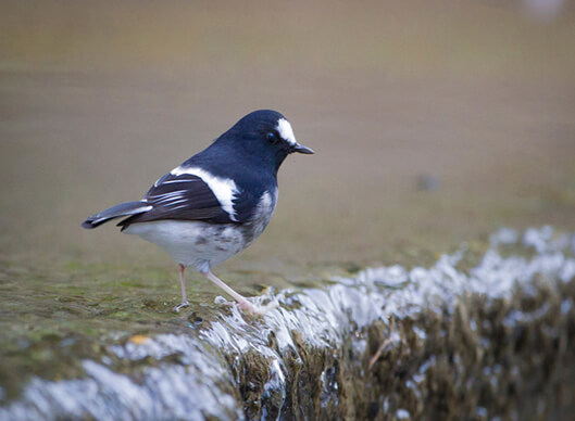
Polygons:
M233 307L108 337L68 353L64 379L2 388L0 419L562 419L575 410L574 250L549 227L504 229L429 268L272 291L257 299L282 306L262 318Z

